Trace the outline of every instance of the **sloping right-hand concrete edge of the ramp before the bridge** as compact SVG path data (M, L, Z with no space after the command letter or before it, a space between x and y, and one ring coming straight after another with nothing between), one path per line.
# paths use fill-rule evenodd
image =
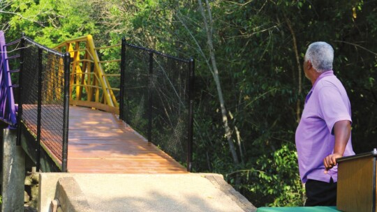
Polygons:
M251 202L249 202L246 197L241 195L235 188L229 185L223 178L221 174L207 174L207 173L200 173L200 176L205 177L208 181L210 181L216 188L221 190L225 193L230 199L232 199L242 210L245 212L256 212L257 208Z

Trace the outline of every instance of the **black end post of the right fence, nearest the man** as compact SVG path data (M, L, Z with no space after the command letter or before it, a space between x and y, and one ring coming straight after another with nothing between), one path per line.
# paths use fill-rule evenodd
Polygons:
M194 81L194 70L195 61L190 59L190 70L188 77L188 142L187 142L187 171L192 171L193 162L193 81Z

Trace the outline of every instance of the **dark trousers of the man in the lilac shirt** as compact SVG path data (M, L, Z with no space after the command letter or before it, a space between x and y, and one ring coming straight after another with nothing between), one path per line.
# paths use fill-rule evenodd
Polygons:
M337 183L308 179L305 183L305 206L337 206Z

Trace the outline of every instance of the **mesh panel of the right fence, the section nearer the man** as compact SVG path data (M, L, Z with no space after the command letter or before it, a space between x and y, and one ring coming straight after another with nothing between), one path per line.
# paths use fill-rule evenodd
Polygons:
M188 140L188 62L154 54L153 66L152 141L183 162Z

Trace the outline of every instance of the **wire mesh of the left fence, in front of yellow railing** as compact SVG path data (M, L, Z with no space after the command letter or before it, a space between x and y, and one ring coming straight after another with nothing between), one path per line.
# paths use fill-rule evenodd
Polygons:
M23 55L22 121L38 138L38 118L40 118L40 142L62 161L64 56L28 39L25 39ZM40 70L40 82L38 82L38 70ZM38 100L40 100L39 116Z

